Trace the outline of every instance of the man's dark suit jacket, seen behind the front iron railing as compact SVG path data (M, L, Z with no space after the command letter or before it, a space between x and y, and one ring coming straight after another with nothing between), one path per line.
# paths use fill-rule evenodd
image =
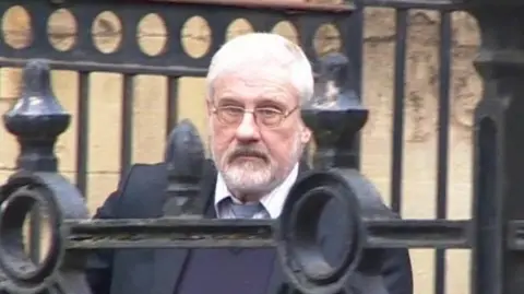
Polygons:
M301 165L301 170L307 169ZM202 181L202 197L206 199L206 217L216 217L213 207L216 170L210 162ZM361 183L355 183L362 185ZM98 219L152 219L163 216L164 190L167 185L167 170L164 164L134 165L111 193L95 217ZM371 185L361 186L368 192ZM373 190L374 191L374 190ZM371 197L373 198L373 197ZM395 217L379 199L367 199L369 213L380 217ZM330 209L330 208L327 208ZM365 209L366 211L366 209ZM340 217L329 217L324 213L320 237L326 258L336 260L343 242L333 233L341 224ZM336 231L336 230L335 230ZM330 232L332 234L330 234ZM94 294L174 294L187 266L189 249L118 249L99 250L87 262L87 280ZM354 293L362 294L412 294L412 268L406 249L388 249L383 256L383 266L379 274L361 270L348 285ZM284 291L285 283L278 259L267 285L267 294L291 293ZM352 293L353 294L353 293Z

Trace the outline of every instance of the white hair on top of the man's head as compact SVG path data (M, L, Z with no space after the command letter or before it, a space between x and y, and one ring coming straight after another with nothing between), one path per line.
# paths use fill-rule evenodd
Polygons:
M298 91L301 103L313 96L313 72L302 49L285 37L272 33L250 33L233 38L211 60L206 77L207 98L213 96L213 82L226 72L267 64L289 71L289 82Z

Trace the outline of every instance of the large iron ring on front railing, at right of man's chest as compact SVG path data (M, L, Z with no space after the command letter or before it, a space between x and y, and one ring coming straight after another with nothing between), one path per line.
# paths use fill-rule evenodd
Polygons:
M289 192L279 219L277 250L284 272L302 293L338 293L357 268L364 249L360 204L341 170L311 172ZM345 213L347 240L337 267L324 258L317 231L324 208L336 201Z

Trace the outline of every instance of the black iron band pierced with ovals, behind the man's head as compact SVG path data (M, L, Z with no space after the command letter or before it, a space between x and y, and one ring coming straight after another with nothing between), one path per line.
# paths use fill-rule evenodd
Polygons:
M211 56L227 38L279 30L315 60L347 49L341 36L348 33L347 16L354 10L352 5L286 1L201 1L210 8L206 11L196 9L200 2L193 1L133 1L126 9L116 3L61 5L22 0L15 7L4 4L0 66L21 67L33 52L39 52L58 70L123 69L136 74L203 77ZM217 9L221 15L214 13ZM43 23L46 27L35 26Z

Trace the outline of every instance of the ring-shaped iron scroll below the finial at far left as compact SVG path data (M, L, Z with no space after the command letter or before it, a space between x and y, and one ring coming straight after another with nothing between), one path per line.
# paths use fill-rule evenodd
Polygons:
M61 287L61 270L67 246L66 220L88 219L82 196L66 178L55 173L20 172L1 190L0 269L7 277L2 286L9 293L40 293ZM26 255L24 221L34 207L47 211L49 225L47 256L35 262Z

